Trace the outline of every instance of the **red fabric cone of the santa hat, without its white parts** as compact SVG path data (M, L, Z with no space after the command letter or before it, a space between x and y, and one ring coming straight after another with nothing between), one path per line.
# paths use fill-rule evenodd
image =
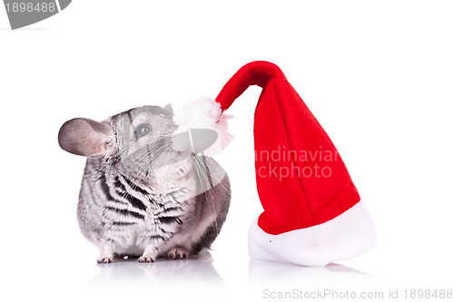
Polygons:
M254 116L257 190L264 209L259 226L273 235L310 228L360 201L338 151L278 66L242 67L216 98L222 111L250 85L263 89ZM286 177L279 174L287 171Z

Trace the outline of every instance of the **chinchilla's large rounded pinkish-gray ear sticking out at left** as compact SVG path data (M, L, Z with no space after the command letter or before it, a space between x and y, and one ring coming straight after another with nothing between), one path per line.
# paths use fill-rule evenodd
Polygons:
M75 155L105 156L114 146L114 132L108 122L78 118L63 124L58 143Z

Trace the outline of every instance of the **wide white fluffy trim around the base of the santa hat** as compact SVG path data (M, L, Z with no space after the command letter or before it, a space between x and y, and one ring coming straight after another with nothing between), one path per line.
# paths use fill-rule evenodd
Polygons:
M361 201L330 221L279 235L265 233L257 221L249 229L251 258L323 267L377 244L372 219Z

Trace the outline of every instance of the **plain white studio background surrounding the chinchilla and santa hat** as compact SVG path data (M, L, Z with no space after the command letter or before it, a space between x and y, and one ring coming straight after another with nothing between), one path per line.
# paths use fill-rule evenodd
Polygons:
M452 1L74 0L11 31L0 7L1 294L8 300L260 300L264 290L453 288ZM338 266L250 261L250 88L216 157L232 207L211 257L96 265L75 219L84 158L59 149L74 117L215 97L244 63L278 64L331 136L379 245ZM5 300L2 297L2 300Z

